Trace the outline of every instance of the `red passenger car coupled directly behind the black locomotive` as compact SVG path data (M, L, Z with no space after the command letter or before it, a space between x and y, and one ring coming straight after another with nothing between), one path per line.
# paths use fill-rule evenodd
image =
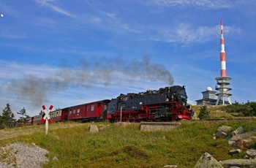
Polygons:
M98 102L68 107L67 119L69 121L98 121L105 119L109 102L110 100L105 99Z

